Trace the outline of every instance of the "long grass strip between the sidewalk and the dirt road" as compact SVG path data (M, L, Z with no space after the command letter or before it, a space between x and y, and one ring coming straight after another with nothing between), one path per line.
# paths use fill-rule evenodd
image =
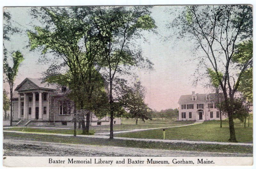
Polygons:
M215 145L215 144L188 144L188 143L165 143L165 142L146 142L132 140L116 140L85 137L66 137L56 135L23 134L23 133L4 133L4 139L59 142L72 144L133 147L144 149L163 149L163 150L186 150L204 152L229 152L229 153L252 153L252 146L240 145ZM114 149L113 149L114 150Z

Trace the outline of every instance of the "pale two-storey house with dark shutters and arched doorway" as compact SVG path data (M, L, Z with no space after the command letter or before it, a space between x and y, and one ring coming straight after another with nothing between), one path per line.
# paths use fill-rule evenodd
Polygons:
M220 111L216 107L215 93L182 95L179 99L179 120L219 120ZM222 115L222 119L225 119Z

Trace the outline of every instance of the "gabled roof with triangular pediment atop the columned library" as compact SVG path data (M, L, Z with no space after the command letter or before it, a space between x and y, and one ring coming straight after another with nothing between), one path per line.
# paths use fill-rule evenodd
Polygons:
M29 84L29 88L22 88L22 85ZM23 91L29 89L47 89L47 90L55 90L56 86L48 83L43 83L40 78L26 78L24 79L14 90Z

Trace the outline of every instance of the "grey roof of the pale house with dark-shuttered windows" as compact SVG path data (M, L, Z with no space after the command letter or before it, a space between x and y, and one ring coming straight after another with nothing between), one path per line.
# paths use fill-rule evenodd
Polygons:
M210 96L210 100L206 100L206 95ZM192 100L192 96L196 96L196 100ZM204 94L192 94L192 95L182 95L178 101L178 104L182 103L209 103L216 102L216 94L215 93L204 93Z

